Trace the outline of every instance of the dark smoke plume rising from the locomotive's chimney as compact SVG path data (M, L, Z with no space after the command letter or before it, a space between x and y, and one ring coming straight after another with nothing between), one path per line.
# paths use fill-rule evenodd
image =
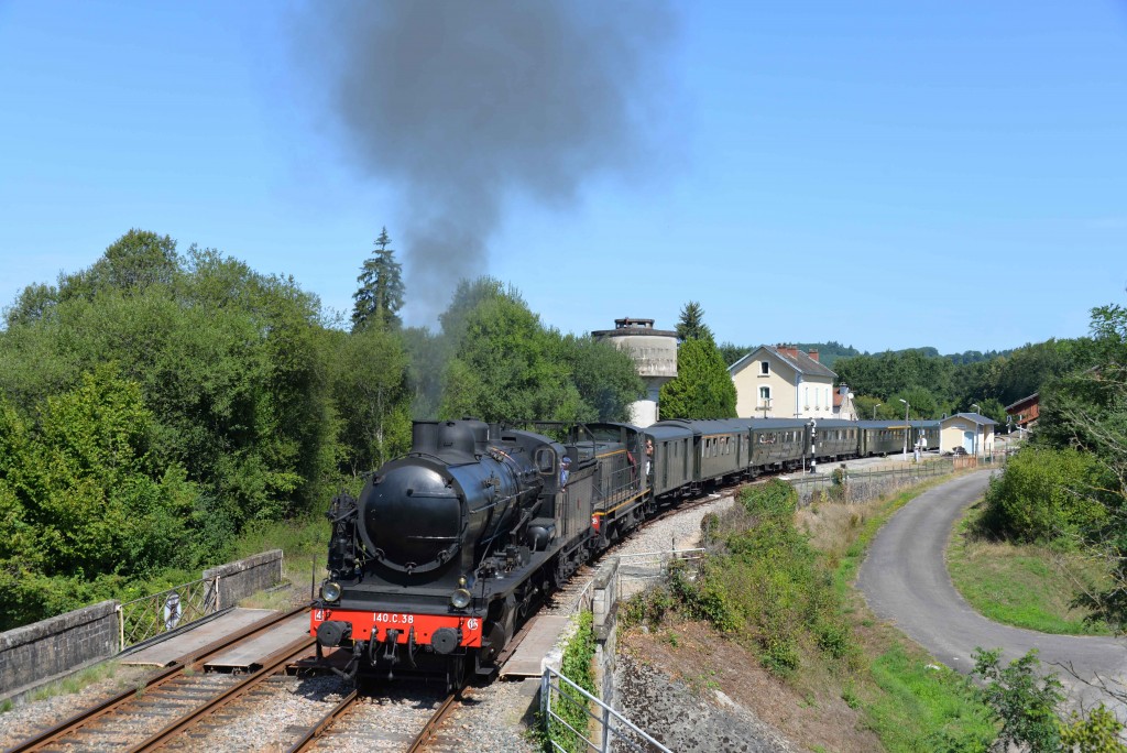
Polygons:
M302 25L347 159L401 201L416 320L488 272L511 200L566 206L587 178L638 167L668 106L666 0L326 2Z

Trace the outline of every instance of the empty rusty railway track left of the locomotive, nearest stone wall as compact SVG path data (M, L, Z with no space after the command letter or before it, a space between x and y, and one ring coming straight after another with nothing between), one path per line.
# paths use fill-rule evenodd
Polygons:
M281 622L308 611L301 606L272 615L216 640L188 659L179 659L132 688L8 748L6 753L57 750L145 751L166 745L180 730L248 692L292 661L304 656L312 638L301 638L261 663L249 675L204 674L203 665L241 641L250 640ZM168 718L176 719L171 724Z

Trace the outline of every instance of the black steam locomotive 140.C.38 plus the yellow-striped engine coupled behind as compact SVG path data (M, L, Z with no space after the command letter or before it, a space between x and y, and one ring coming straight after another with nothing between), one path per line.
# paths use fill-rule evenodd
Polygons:
M445 673L460 686L491 673L534 599L642 520L642 451L628 426L565 445L476 420L416 423L410 453L358 499L332 502L319 650L350 647L348 675Z

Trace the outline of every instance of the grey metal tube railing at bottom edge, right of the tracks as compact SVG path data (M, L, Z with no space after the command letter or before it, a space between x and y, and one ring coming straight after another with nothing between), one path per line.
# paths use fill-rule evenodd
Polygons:
M592 708L596 711L592 711ZM552 750L567 753L609 753L612 750L672 753L621 714L550 666L544 668L540 679L540 709L554 733L550 735ZM564 709L582 709L587 719L586 728L576 729L571 726L561 715Z

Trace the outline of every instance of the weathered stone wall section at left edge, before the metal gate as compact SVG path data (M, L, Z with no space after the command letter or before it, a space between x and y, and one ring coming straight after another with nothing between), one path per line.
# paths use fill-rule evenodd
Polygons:
M117 653L117 602L104 601L0 634L0 698Z

